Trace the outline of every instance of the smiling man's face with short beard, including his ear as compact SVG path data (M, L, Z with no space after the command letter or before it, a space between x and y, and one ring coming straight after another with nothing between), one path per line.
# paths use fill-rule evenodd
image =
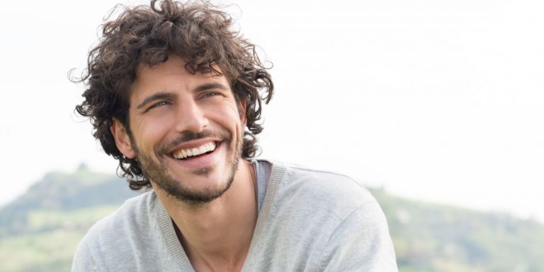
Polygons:
M118 148L136 157L153 186L189 203L229 189L237 170L245 105L225 76L192 75L180 57L140 66L130 95L130 131L115 121Z

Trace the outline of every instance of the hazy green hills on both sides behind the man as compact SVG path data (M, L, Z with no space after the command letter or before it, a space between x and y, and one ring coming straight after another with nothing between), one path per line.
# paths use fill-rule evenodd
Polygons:
M371 190L382 205L400 272L542 272L544 225ZM50 173L0 208L0 271L69 271L86 230L137 195L113 175Z

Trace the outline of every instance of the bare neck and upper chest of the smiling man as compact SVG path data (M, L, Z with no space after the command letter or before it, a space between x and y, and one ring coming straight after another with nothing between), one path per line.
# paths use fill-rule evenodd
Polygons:
M232 186L222 196L194 207L156 189L196 271L240 271L257 220L254 170L240 160Z

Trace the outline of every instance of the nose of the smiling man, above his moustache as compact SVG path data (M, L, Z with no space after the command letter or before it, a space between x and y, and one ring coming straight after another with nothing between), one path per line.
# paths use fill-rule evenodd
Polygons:
M186 131L197 133L203 131L210 123L204 113L198 106L198 103L192 99L180 102L176 131L179 133Z

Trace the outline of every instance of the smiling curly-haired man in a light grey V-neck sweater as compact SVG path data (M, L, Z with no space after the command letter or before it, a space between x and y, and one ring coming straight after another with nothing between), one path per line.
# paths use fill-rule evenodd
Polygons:
M91 227L72 271L397 271L360 184L251 159L273 84L231 24L154 0L103 25L77 111L131 189L151 190Z

